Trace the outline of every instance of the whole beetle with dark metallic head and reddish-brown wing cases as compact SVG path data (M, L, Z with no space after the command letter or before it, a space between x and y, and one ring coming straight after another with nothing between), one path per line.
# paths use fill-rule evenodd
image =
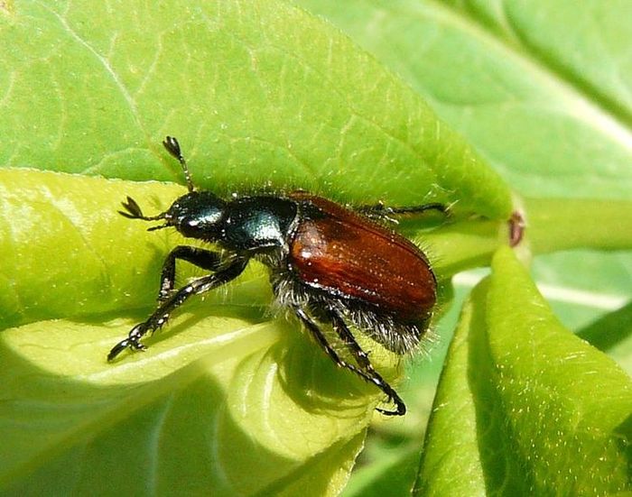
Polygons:
M276 304L293 312L335 364L375 384L395 404L395 410L378 411L404 415L404 401L376 371L349 324L396 354L420 344L435 307L437 280L423 251L387 227L386 221L428 209L445 212L445 207L391 208L380 203L352 209L303 190L227 200L193 186L175 138L167 136L163 146L180 162L188 192L156 216L144 216L130 197L119 213L162 221L148 229L172 227L220 250L175 247L163 263L157 308L112 348L107 360L125 349L145 350L142 338L163 327L175 308L193 295L234 280L248 261L256 259L270 270ZM175 289L177 260L209 274ZM333 329L355 364L339 355L322 326Z

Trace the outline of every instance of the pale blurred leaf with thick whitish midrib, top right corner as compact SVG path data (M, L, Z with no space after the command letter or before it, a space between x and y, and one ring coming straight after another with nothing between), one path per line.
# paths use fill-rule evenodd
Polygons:
M630 198L627 0L301 0L528 197Z

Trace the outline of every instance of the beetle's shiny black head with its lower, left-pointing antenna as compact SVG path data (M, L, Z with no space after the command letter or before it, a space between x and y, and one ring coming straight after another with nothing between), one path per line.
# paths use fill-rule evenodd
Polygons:
M152 226L149 231L174 227L182 235L212 242L218 239L224 218L226 202L209 191L191 191L172 203L165 212L157 216L144 216L133 198L123 202L126 212L122 216L144 221L163 220L163 225Z

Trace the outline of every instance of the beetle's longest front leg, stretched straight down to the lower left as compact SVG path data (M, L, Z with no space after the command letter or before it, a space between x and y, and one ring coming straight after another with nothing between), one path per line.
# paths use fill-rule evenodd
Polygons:
M107 361L112 361L116 355L123 352L126 348L134 351L144 350L146 347L141 344L141 338L148 332L153 332L163 327L175 308L180 307L182 303L192 295L206 293L209 290L228 283L228 281L234 280L244 271L247 262L247 258L239 257L233 262L230 262L228 266L221 271L191 281L191 283L173 293L153 311L153 314L146 321L133 327L125 340L121 340L112 348L110 353L107 354Z

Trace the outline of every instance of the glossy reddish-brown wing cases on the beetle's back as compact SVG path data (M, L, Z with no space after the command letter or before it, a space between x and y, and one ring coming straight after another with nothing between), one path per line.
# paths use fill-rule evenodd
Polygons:
M303 216L290 246L291 269L303 283L403 320L429 314L436 281L414 244L325 198L303 193L294 198L323 214Z

